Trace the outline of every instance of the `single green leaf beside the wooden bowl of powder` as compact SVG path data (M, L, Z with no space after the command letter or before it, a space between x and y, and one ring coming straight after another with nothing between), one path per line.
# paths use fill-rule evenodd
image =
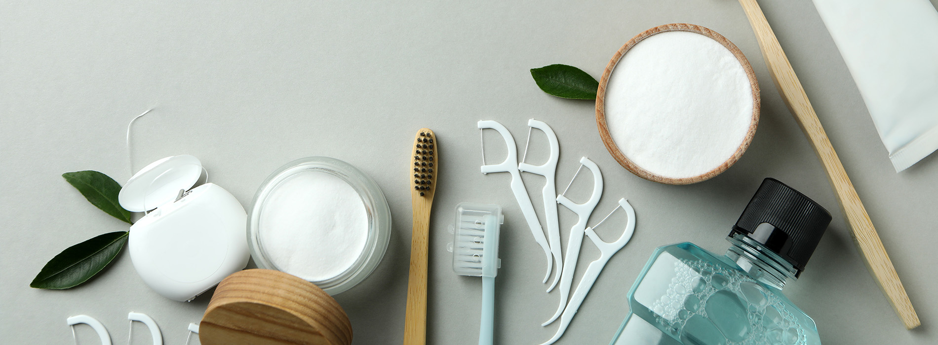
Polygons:
M596 99L599 82L582 69L567 65L531 68L531 76L544 92L573 99Z

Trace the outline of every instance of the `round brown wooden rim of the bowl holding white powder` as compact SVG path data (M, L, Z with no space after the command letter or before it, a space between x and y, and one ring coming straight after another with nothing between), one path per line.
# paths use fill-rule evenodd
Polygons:
M749 123L749 132L747 132L743 143L739 145L736 149L734 155L720 164L717 168L713 170L692 177L682 177L682 178L673 178L665 177L658 175L656 173L651 173L644 170L642 167L639 167L637 164L628 159L621 151L619 151L618 146L613 142L613 137L609 133L609 128L606 125L606 85L609 82L609 78L613 73L613 68L618 64L619 60L623 55L628 52L633 46L641 42L644 38L651 37L652 35L668 32L668 31L688 31L692 33L701 34L705 37L710 37L719 44L726 47L734 54L739 63L743 66L743 69L746 71L746 76L749 77L749 85L752 89L752 120ZM760 98L759 98L759 82L756 81L755 73L752 72L752 67L749 65L749 60L746 59L746 56L743 55L743 52L739 51L739 48L730 42L729 39L719 35L717 32L705 28L700 25L688 24L688 23L672 23L665 24L653 27L651 29L645 30L643 33L639 34L636 37L632 37L628 42L619 49L618 52L615 52L613 58L609 60L609 65L606 65L606 70L602 73L602 79L599 81L599 88L597 91L596 98L596 123L599 128L599 136L602 138L602 143L606 145L606 149L609 150L609 153L613 155L616 161L622 165L623 168L626 168L631 173L638 175L649 181L660 182L668 185L689 185L693 183L698 183L703 180L712 178L719 173L723 173L727 168L733 165L736 160L738 160L746 149L749 147L749 143L752 142L752 137L755 135L756 127L759 125L759 108L760 108Z

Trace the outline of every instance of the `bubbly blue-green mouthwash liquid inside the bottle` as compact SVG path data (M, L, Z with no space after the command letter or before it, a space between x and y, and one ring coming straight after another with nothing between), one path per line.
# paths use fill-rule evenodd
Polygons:
M805 345L786 304L742 272L681 259L667 292L654 302L660 329L686 343Z

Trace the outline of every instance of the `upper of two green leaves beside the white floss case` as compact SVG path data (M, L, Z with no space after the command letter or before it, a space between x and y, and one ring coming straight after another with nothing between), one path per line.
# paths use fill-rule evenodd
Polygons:
M98 206L101 211L106 212L113 218L124 220L130 224L130 211L125 210L117 202L117 194L120 193L120 185L113 178L106 174L86 170L83 172L63 173L62 177L68 181L71 186L82 192L84 199Z

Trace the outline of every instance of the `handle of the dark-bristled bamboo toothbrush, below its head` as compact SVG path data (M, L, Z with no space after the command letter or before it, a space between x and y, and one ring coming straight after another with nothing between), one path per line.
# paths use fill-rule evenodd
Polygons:
M413 198L414 230L411 237L410 274L407 279L407 313L404 345L427 342L427 262L430 243L431 198Z

